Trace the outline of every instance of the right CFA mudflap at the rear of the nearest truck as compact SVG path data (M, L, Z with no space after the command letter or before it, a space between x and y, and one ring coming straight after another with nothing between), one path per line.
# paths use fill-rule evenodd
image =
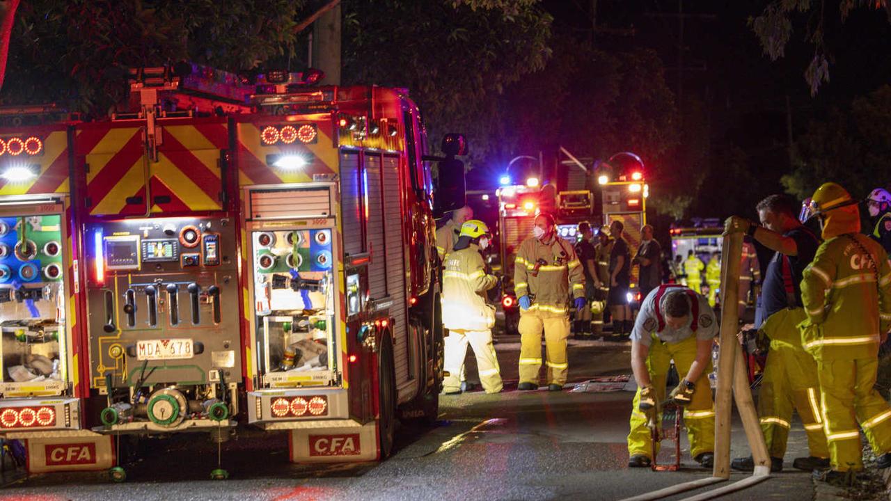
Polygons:
M291 463L353 463L379 456L377 422L290 431Z

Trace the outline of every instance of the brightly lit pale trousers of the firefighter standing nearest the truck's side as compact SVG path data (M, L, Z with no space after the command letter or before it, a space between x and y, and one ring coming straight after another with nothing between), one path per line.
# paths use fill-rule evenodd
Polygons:
M501 391L503 388L501 370L498 367L498 357L495 356L495 346L492 344L492 331L463 329L451 329L446 336L444 365L449 375L443 381L443 389L446 392L461 390L464 357L467 356L468 344L473 349L473 355L477 357L479 382L483 384L483 390L486 390L486 393Z

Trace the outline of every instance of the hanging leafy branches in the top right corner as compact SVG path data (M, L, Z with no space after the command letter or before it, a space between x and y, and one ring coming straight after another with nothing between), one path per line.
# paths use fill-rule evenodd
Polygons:
M884 9L891 20L891 4L887 0L840 0L838 14L830 12L827 0L772 0L755 18L749 19L749 26L755 31L764 53L772 61L783 57L786 46L792 38L793 22L805 25L805 41L813 46L813 58L805 70L805 80L811 87L811 95L817 94L823 83L830 81L830 50L827 37L836 23L845 21L848 15L858 8ZM827 16L836 16L829 19ZM802 21L802 18L804 20Z

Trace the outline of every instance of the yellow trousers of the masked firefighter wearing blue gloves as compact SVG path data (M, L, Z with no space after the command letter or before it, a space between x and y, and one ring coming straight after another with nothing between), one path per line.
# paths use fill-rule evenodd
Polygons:
M569 337L569 317L536 309L519 312L519 382L538 384L542 367L542 331L547 353L548 384L564 384L569 372L566 340Z

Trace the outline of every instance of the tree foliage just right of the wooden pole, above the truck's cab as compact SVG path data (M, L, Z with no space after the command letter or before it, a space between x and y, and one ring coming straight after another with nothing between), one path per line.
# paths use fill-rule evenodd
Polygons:
M407 87L433 126L466 133L481 160L499 127L498 96L551 51L551 16L533 2L362 0L344 4L344 83ZM511 13L486 5L514 4ZM395 19L406 20L394 29Z

